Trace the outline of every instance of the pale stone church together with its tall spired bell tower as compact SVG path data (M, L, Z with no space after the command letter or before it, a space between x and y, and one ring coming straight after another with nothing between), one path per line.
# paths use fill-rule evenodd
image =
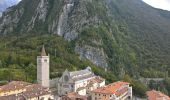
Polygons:
M63 72L62 76L50 79L50 56L44 46L41 55L37 57L37 82L47 88L55 88L59 96L75 92L88 95L99 87L105 86L105 79L95 75L90 67L79 71Z

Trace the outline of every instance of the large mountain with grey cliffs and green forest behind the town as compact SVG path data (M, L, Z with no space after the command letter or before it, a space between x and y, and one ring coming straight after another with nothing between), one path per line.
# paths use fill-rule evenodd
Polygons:
M109 81L167 77L169 26L170 12L141 0L22 0L0 19L0 54L26 70L45 44L54 73L91 65Z

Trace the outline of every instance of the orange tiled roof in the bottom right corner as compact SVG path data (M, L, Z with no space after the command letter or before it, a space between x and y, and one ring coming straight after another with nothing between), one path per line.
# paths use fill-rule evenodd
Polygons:
M148 100L170 100L170 97L160 91L151 90L146 92Z

